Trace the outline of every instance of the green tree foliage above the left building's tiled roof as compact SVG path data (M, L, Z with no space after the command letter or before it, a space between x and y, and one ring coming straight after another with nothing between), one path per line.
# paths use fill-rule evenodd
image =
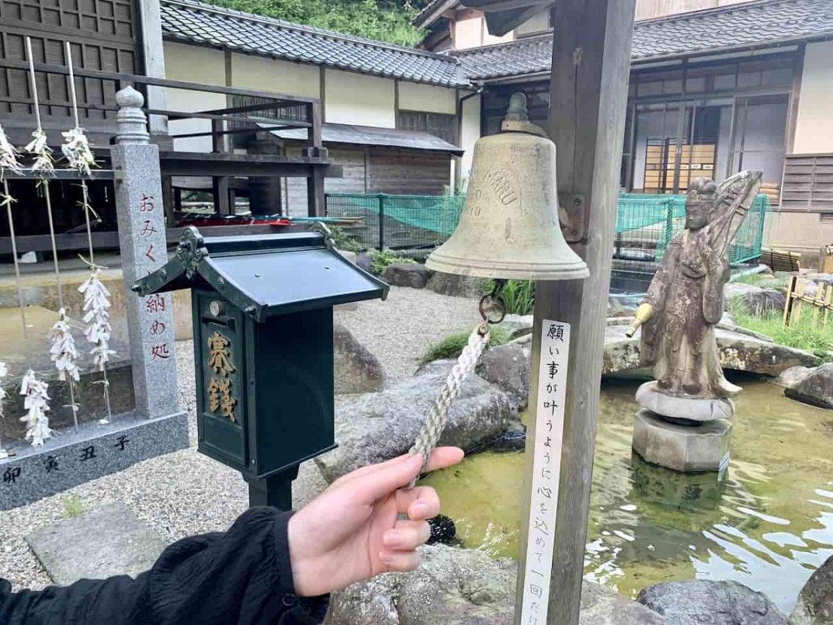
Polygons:
M359 37L415 46L411 20L430 0L213 0L223 7Z

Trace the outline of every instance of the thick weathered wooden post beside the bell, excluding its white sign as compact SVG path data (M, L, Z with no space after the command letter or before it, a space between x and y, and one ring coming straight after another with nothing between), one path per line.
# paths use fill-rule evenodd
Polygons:
M536 291L533 372L541 361L542 320L571 324L549 625L575 625L581 603L635 6L636 0L560 0L552 9L549 132L557 148L559 195L568 198L564 231L591 276L583 283L537 283ZM536 422L537 386L533 373L530 424ZM533 426L526 438L527 511L534 444ZM516 625L521 625L527 527L521 522Z

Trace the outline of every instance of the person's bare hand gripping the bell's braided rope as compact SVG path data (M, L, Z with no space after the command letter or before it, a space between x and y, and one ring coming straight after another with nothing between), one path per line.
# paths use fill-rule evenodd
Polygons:
M426 470L462 459L459 448L437 448ZM421 456L406 455L357 469L292 516L289 556L299 597L317 597L382 572L419 566L416 547L431 536L426 519L440 512L433 488L405 488L421 464ZM407 520L397 518L400 512L407 512Z

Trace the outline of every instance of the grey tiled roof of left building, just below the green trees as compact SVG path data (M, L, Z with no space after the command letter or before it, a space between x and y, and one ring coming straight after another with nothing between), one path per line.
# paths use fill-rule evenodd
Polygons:
M351 72L444 87L469 85L460 62L454 57L194 0L162 0L162 34L169 41L200 43Z

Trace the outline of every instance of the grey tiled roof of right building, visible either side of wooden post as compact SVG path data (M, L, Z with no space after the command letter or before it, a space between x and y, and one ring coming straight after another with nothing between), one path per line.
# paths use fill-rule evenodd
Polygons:
M634 61L731 50L833 34L831 0L757 0L643 20L634 25ZM552 35L453 52L472 80L544 72Z

